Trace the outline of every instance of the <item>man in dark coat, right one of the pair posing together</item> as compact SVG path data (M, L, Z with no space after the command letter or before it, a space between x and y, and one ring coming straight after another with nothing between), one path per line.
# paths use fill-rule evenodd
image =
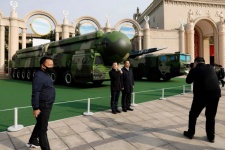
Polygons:
M134 77L133 72L130 69L130 62L128 60L124 61L124 67L122 68L122 110L127 112L127 110L133 111L131 106L131 93L134 88Z

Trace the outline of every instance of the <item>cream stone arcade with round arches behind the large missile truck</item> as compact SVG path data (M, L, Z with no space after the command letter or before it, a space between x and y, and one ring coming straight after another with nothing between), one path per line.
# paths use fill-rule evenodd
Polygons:
M13 1L15 4L17 4L15 1ZM32 40L32 35L28 33L28 28L30 26L29 19L34 17L35 15L44 16L51 20L53 26L54 26L54 39L55 41L58 41L60 39L65 39L69 37L76 36L77 26L81 24L82 21L88 20L88 22L92 22L96 28L96 30L101 30L103 32L110 32L120 30L120 26L122 24L132 24L134 28L138 31L138 34L135 35L137 37L147 37L148 31L145 32L145 29L141 28L141 26L138 24L136 20L125 18L122 20L119 20L116 25L111 27L109 17L106 16L106 24L105 26L101 26L99 21L95 19L92 16L82 16L77 19L75 19L72 24L69 24L69 21L67 19L68 13L63 11L64 14L64 20L63 24L59 24L57 19L51 15L50 13L42 10L34 10L32 12L29 12L27 15L24 16L24 18L18 18L18 13L16 11L17 5L12 5L12 11L9 17L5 17L3 13L0 11L0 74L5 74L7 71L5 70L5 61L9 62L12 60L13 55L16 53L19 49L27 48L27 43L30 42L29 40ZM39 20L40 21L40 20ZM43 21L43 20L42 20ZM148 27L149 28L149 27ZM6 29L8 32L5 32ZM6 35L7 33L7 35ZM35 35L35 37L38 37L39 35ZM144 39L147 39L144 38ZM7 43L6 43L7 41ZM148 41L149 39L145 40L145 46L144 48L148 48ZM19 44L21 46L19 46ZM143 47L139 47L139 49L142 49ZM5 58L5 52L8 51L8 57ZM8 69L8 72L10 69ZM10 72L9 72L10 73Z

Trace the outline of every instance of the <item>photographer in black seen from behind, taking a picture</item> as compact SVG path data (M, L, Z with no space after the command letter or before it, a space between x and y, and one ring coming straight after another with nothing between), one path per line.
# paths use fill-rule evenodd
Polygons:
M187 75L186 83L194 84L194 97L189 112L188 131L184 131L184 136L190 139L193 138L197 118L203 108L206 108L206 134L208 140L214 142L215 116L219 98L221 97L221 90L213 66L205 64L205 60L202 57L195 58L194 67Z

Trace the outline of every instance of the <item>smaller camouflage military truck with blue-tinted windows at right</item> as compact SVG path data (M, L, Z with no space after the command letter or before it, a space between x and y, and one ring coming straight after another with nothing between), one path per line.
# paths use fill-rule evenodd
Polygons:
M187 74L190 55L175 53L147 54L130 59L134 78L140 80L146 77L150 81L165 81L173 77Z

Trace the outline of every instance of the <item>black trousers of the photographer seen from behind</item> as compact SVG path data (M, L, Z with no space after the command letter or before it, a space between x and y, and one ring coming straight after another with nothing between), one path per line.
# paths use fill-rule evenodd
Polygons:
M189 112L189 125L188 132L191 135L195 134L195 125L198 116L205 108L206 125L205 130L207 137L214 139L215 137L215 117L217 113L217 107L219 98L204 97L204 99L194 98Z

